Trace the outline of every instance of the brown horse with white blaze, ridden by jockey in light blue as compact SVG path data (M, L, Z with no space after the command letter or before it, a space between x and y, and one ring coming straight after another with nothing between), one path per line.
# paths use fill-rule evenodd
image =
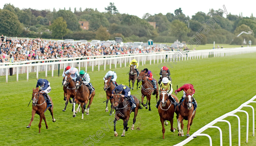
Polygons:
M112 82L111 78L105 78L104 91L106 91L106 94L107 94L106 112L108 112L108 99L110 99L110 97L112 96L112 90L114 90L115 87L116 86ZM114 114L113 99L110 99L110 103L111 103L111 110L110 110L109 115L112 115L112 114ZM113 113L112 113L112 109L113 109Z

